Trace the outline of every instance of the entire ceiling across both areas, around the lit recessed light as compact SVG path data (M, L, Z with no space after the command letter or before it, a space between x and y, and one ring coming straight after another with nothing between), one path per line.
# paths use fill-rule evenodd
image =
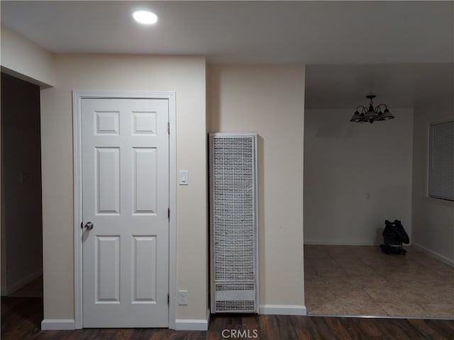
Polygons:
M159 21L138 25L135 8ZM313 108L357 106L371 91L409 107L454 80L453 1L1 1L1 23L55 53L306 64Z

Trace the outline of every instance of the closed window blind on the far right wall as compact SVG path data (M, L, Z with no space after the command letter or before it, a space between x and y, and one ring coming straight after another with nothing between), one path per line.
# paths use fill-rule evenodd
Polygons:
M454 200L454 120L430 125L428 196Z

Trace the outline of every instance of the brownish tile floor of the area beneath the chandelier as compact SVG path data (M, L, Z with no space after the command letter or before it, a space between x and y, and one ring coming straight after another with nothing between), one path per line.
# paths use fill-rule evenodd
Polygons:
M405 249L305 245L307 313L454 319L454 267Z

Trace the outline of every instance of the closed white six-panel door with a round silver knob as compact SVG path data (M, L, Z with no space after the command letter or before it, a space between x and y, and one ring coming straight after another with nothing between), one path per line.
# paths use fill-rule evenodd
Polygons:
M83 327L168 327L168 100L81 111Z

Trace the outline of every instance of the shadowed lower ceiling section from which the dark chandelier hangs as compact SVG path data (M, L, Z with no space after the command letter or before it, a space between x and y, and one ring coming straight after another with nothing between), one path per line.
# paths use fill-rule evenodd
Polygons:
M308 65L306 108L366 106L368 94L375 104L414 108L433 101L454 105L454 64ZM454 108L454 106L453 106Z

